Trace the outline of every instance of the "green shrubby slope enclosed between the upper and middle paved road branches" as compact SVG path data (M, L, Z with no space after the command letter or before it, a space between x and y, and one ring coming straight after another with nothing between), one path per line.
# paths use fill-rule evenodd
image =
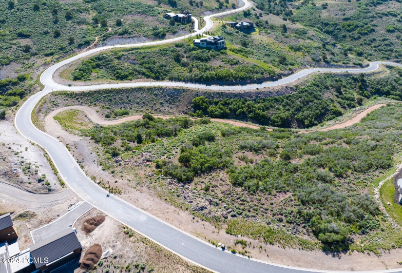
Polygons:
M94 73L96 76L93 76ZM263 80L274 75L274 72L230 56L226 50L199 49L189 44L176 43L174 46L119 50L96 55L80 63L71 75L74 80L152 78L230 82Z

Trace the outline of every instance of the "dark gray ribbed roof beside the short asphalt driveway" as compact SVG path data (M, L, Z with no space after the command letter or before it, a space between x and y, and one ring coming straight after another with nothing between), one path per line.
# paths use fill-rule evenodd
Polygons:
M35 267L39 268L42 265L45 265L45 263L41 263L44 258L48 258L47 264L49 264L79 248L82 248L81 243L78 241L74 230L69 228L59 234L32 245L29 250L34 259L42 259L38 263L35 263Z

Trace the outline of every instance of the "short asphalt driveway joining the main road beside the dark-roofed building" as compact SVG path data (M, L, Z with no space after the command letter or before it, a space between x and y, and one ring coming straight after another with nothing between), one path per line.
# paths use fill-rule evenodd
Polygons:
M32 240L34 243L40 242L49 238L50 236L56 235L61 231L68 229L70 225L74 227L73 224L76 222L76 220L92 208L92 205L87 202L79 204L65 215L57 218L56 221L31 231Z

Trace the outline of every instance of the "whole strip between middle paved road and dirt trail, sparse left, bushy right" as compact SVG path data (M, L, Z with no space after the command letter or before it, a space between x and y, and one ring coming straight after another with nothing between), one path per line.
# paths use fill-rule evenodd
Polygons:
M238 119L280 128L310 128L339 119L369 101L401 100L402 70L386 68L371 75L318 74L295 86L272 91L219 93L144 87L58 92L52 95L52 101L55 105L64 106L81 103L96 105L107 118L144 112L183 113L193 117Z

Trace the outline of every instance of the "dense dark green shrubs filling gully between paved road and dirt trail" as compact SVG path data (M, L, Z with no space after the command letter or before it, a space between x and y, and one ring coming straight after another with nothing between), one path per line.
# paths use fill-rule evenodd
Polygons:
M275 127L306 128L342 115L373 96L402 99L402 70L391 68L390 75L366 77L364 74L339 77L314 76L296 86L294 94L258 99L192 100L194 116L252 120Z

